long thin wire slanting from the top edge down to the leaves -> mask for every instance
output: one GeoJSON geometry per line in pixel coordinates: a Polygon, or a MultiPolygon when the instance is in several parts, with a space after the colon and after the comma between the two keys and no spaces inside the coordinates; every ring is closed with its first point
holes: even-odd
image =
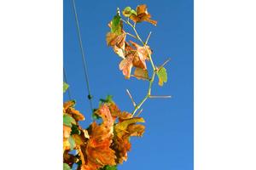
{"type": "Polygon", "coordinates": [[[81,49],[81,54],[82,54],[82,59],[83,59],[84,78],[85,78],[87,92],[88,92],[88,96],[87,97],[88,97],[88,99],[90,101],[90,110],[93,111],[93,109],[92,109],[92,101],[91,101],[92,95],[90,94],[88,69],[87,69],[87,65],[86,65],[86,59],[85,59],[85,56],[84,56],[84,48],[83,48],[83,42],[82,42],[81,32],[80,32],[80,28],[79,28],[79,18],[78,18],[78,14],[77,14],[75,0],[73,0],[73,12],[74,12],[74,15],[75,15],[76,27],[77,27],[78,36],[79,36],[79,47],[81,49]]]}

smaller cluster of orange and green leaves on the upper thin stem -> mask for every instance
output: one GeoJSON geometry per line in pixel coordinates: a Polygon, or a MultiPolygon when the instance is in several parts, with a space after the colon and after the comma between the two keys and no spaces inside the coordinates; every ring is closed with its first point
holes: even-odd
{"type": "MultiPolygon", "coordinates": [[[[151,15],[148,13],[145,4],[137,6],[137,10],[126,7],[122,14],[131,19],[134,23],[148,21],[156,25],[155,20],[150,20],[151,15]]],[[[137,78],[148,79],[148,71],[146,60],[149,60],[149,55],[152,50],[147,44],[140,46],[136,42],[126,41],[126,32],[123,29],[123,20],[120,14],[116,14],[113,20],[108,24],[111,31],[108,32],[106,40],[108,46],[113,47],[113,51],[122,58],[119,63],[119,69],[123,71],[125,78],[131,77],[131,68],[135,67],[134,75],[137,78]]]]}

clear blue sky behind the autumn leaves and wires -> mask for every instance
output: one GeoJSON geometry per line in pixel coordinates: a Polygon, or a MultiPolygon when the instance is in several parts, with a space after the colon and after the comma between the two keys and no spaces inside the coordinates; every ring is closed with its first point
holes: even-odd
{"type": "MultiPolygon", "coordinates": [[[[119,71],[119,57],[106,44],[108,22],[117,7],[136,8],[138,4],[147,3],[148,12],[152,19],[158,20],[158,26],[138,24],[137,31],[143,39],[149,31],[153,32],[149,45],[154,50],[156,65],[172,58],[166,65],[168,82],[162,88],[155,82],[152,89],[152,94],[170,94],[172,99],[148,99],[143,105],[146,132],[141,139],[131,139],[128,161],[119,166],[119,170],[193,169],[193,0],[76,2],[94,107],[99,99],[112,94],[122,111],[132,111],[125,89],[130,89],[134,99],[140,101],[148,88],[148,82],[134,78],[125,80],[119,71]]],[[[82,123],[86,127],[92,120],[71,0],[64,0],[63,28],[67,80],[72,97],[77,101],[76,108],[86,117],[82,123]]]]}

